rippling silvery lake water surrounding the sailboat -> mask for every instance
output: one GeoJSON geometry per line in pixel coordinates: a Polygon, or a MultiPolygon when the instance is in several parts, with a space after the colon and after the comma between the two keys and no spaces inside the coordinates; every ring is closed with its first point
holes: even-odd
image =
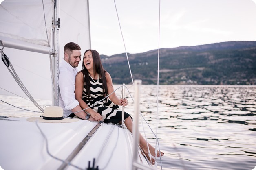
{"type": "MultiPolygon", "coordinates": [[[[126,111],[132,114],[128,91],[133,96],[133,87],[127,87],[126,111]]],[[[116,93],[119,96],[120,89],[116,93]]],[[[0,99],[38,111],[20,97],[0,99]]],[[[252,170],[256,166],[256,86],[160,85],[157,104],[157,86],[142,85],[140,101],[141,113],[157,132],[165,153],[161,157],[164,170],[252,170]]],[[[47,100],[38,102],[51,105],[47,100]]],[[[39,115],[2,101],[0,107],[0,115],[9,117],[39,115]]],[[[154,135],[145,123],[143,126],[154,144],[154,135]]],[[[143,126],[140,124],[141,131],[143,126]]],[[[157,168],[161,169],[159,158],[157,168]]]]}

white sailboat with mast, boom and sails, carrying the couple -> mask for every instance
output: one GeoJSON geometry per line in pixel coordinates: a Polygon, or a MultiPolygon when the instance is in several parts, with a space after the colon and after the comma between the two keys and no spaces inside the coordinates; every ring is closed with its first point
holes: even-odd
{"type": "MultiPolygon", "coordinates": [[[[18,49],[49,57],[52,105],[58,106],[60,48],[70,41],[90,48],[88,0],[5,0],[0,7],[0,40],[4,65],[35,105],[33,92],[13,70],[9,54],[18,49]]],[[[36,64],[41,63],[33,62],[36,64]]],[[[29,81],[33,84],[36,80],[29,81]]],[[[139,83],[135,87],[139,88],[139,83]]],[[[34,89],[46,93],[44,86],[34,89]]],[[[38,108],[43,113],[44,109],[38,108]]],[[[137,132],[132,135],[124,127],[87,120],[40,123],[27,119],[0,118],[0,166],[5,170],[155,169],[141,154],[137,132]]]]}

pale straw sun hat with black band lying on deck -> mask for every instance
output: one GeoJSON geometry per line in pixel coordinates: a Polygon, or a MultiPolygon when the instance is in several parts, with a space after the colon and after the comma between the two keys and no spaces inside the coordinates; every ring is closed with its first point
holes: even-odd
{"type": "Polygon", "coordinates": [[[31,117],[27,118],[30,122],[40,122],[40,123],[69,123],[76,122],[79,119],[69,119],[63,117],[63,109],[59,106],[49,106],[44,109],[43,117],[31,117]]]}

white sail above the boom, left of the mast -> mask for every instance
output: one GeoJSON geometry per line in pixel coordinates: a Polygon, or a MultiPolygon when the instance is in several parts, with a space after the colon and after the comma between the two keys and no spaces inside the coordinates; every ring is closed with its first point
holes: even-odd
{"type": "Polygon", "coordinates": [[[42,0],[3,1],[0,6],[0,39],[4,45],[18,49],[37,47],[41,52],[45,49],[48,54],[48,48],[40,46],[48,46],[51,40],[53,6],[52,0],[44,0],[43,5],[42,0]]]}

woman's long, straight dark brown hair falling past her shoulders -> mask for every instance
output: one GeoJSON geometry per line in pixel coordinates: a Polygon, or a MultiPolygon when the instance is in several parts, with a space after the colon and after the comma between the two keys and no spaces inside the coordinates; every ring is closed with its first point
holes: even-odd
{"type": "MultiPolygon", "coordinates": [[[[104,96],[107,96],[108,95],[108,87],[107,87],[107,81],[106,81],[106,76],[105,76],[106,70],[103,68],[102,61],[99,56],[99,52],[97,52],[96,50],[89,49],[84,52],[84,55],[87,51],[90,51],[93,54],[93,74],[95,75],[95,72],[96,72],[99,74],[99,76],[102,77],[103,93],[104,93],[104,96]]],[[[90,97],[90,78],[89,78],[89,72],[84,65],[84,58],[83,58],[81,71],[84,74],[86,95],[88,95],[88,97],[90,97]]]]}

